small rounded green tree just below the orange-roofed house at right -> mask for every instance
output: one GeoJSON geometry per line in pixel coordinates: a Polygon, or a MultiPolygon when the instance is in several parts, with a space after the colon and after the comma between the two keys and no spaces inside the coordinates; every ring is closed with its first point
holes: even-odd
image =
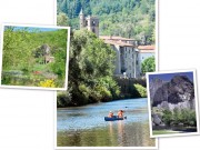
{"type": "Polygon", "coordinates": [[[153,72],[156,70],[156,63],[154,63],[154,57],[147,58],[142,62],[142,74],[146,74],[146,72],[153,72]]]}

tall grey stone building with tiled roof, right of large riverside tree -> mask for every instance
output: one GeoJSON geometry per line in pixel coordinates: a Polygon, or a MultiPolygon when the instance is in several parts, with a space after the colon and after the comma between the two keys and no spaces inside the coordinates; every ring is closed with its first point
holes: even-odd
{"type": "Polygon", "coordinates": [[[138,50],[134,40],[122,37],[100,36],[100,39],[110,44],[117,53],[114,74],[118,77],[138,78],[138,50]]]}

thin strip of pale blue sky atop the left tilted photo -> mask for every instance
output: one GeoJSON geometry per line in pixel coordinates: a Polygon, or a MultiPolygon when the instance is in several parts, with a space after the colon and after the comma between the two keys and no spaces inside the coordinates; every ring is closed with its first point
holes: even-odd
{"type": "Polygon", "coordinates": [[[40,27],[20,27],[20,26],[4,26],[4,27],[6,28],[7,27],[14,27],[14,30],[21,30],[21,29],[28,28],[28,31],[30,31],[30,32],[36,31],[36,30],[41,31],[41,32],[60,30],[57,28],[40,28],[40,27]]]}

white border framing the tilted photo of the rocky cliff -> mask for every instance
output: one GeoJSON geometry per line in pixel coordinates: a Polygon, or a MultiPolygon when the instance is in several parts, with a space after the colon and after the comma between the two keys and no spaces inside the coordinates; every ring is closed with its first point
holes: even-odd
{"type": "Polygon", "coordinates": [[[173,71],[159,71],[159,72],[148,72],[146,73],[147,78],[147,93],[148,93],[148,110],[149,110],[149,130],[150,130],[150,138],[162,138],[162,137],[186,137],[186,136],[198,136],[199,132],[199,102],[198,102],[198,91],[197,91],[197,71],[196,69],[188,69],[188,70],[173,70],[173,71]],[[168,134],[152,134],[152,123],[151,123],[151,101],[150,101],[150,91],[149,91],[149,74],[163,74],[163,73],[181,73],[181,72],[192,72],[193,74],[193,87],[194,87],[194,101],[196,101],[196,120],[197,120],[197,132],[190,133],[168,133],[168,134]]]}

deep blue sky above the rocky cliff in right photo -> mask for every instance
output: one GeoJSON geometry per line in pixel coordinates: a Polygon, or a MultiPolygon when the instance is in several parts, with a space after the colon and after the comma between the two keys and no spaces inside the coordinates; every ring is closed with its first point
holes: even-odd
{"type": "Polygon", "coordinates": [[[152,81],[152,79],[158,78],[164,81],[170,81],[174,76],[187,76],[190,81],[193,82],[193,72],[173,72],[173,73],[157,73],[157,74],[149,74],[149,81],[152,81]]]}

